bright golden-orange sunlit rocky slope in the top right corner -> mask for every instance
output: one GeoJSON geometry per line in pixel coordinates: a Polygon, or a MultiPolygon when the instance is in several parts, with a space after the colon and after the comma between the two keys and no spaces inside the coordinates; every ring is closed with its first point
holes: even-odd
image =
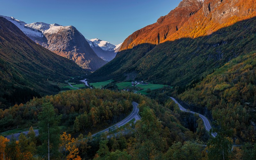
{"type": "Polygon", "coordinates": [[[207,36],[238,21],[256,16],[255,0],[204,0],[202,8],[163,42],[207,36]]]}

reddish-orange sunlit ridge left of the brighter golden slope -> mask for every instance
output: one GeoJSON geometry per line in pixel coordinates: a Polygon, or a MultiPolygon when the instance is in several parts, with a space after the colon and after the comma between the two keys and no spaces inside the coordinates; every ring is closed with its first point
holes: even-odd
{"type": "Polygon", "coordinates": [[[177,32],[180,27],[203,6],[201,0],[184,0],[166,16],[161,16],[156,23],[137,30],[127,37],[120,51],[148,43],[159,44],[177,32]]]}

